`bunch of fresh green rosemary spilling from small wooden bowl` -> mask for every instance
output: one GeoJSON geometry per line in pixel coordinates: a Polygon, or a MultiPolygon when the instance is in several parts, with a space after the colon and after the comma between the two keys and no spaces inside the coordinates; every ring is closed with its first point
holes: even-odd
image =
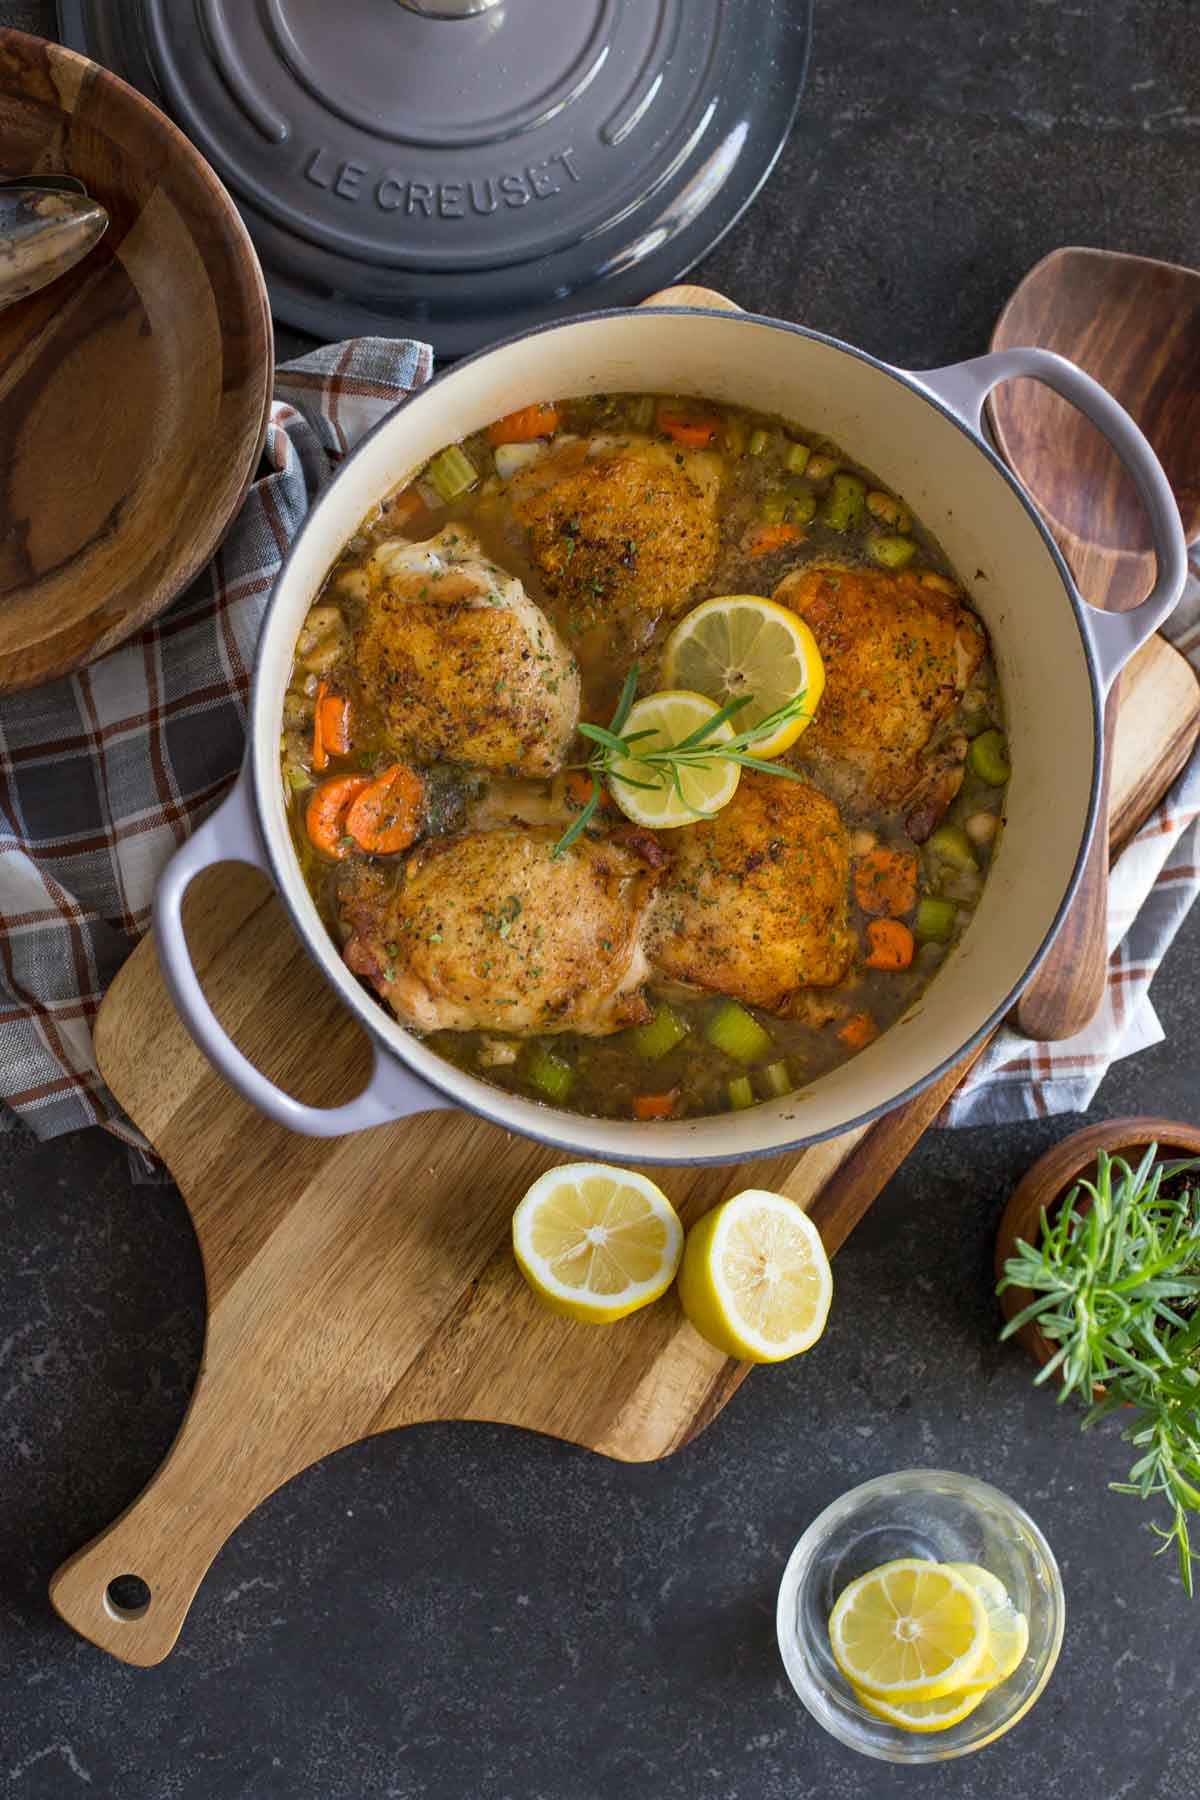
{"type": "Polygon", "coordinates": [[[1193,1593],[1189,1514],[1200,1512],[1200,1184],[1177,1177],[1200,1157],[1160,1163],[1150,1145],[1137,1168],[1105,1150],[1096,1179],[1042,1215],[1036,1246],[1018,1240],[1004,1264],[1006,1287],[1034,1298],[1002,1330],[1027,1319],[1056,1345],[1034,1381],[1061,1377],[1060,1400],[1092,1400],[1083,1429],[1123,1411],[1123,1442],[1137,1451],[1117,1494],[1166,1503],[1169,1526],[1151,1525],[1159,1553],[1175,1546],[1180,1580],[1193,1593]],[[1164,1184],[1169,1188],[1162,1192],[1164,1184]],[[1126,1409],[1132,1409],[1126,1411],[1126,1409]]]}

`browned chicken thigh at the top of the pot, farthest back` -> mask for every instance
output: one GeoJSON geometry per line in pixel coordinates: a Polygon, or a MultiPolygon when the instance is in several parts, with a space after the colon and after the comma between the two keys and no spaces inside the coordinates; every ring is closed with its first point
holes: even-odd
{"type": "Polygon", "coordinates": [[[587,630],[621,614],[644,634],[712,574],[720,463],[651,437],[574,439],[509,484],[551,594],[587,630]]]}

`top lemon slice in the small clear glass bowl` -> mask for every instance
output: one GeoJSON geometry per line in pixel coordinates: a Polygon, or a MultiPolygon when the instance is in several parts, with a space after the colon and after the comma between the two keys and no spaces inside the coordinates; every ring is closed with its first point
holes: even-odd
{"type": "Polygon", "coordinates": [[[988,1611],[963,1575],[905,1557],[842,1589],[829,1649],[849,1685],[874,1699],[941,1699],[982,1669],[988,1611]]]}

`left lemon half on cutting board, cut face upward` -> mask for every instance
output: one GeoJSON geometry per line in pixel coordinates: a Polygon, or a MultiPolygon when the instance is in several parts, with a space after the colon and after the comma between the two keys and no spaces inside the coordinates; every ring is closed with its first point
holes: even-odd
{"type": "Polygon", "coordinates": [[[646,1175],[567,1163],[540,1175],[513,1213],[513,1251],[552,1312],[606,1325],[666,1294],[684,1226],[646,1175]]]}

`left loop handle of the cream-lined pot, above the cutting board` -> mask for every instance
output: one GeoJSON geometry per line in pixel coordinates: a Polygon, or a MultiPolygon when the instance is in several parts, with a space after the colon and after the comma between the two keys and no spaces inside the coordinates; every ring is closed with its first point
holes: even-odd
{"type": "Polygon", "coordinates": [[[259,1112],[308,1138],[340,1138],[369,1125],[387,1125],[408,1112],[452,1107],[452,1100],[410,1075],[398,1058],[383,1055],[378,1044],[372,1044],[371,1080],[340,1107],[309,1107],[293,1100],[243,1057],[205,999],[184,932],[184,895],[196,875],[214,862],[248,862],[270,877],[254,817],[248,767],[218,810],[176,850],[155,893],[155,945],[167,990],[218,1075],[259,1112]]]}

